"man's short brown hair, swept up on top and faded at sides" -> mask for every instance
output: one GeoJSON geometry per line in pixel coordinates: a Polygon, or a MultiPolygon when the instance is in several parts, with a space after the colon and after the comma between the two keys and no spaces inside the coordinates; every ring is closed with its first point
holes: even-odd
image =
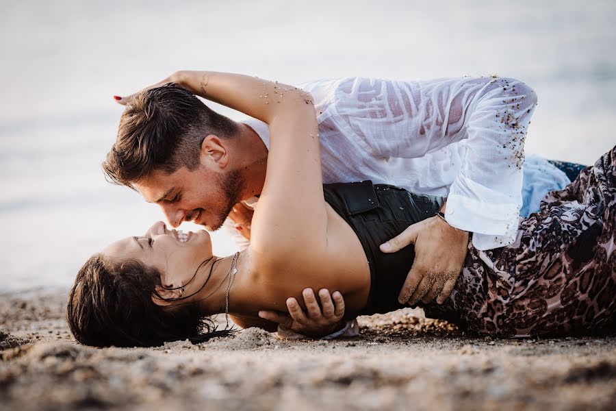
{"type": "Polygon", "coordinates": [[[118,138],[103,162],[110,182],[133,187],[153,171],[194,170],[209,134],[230,138],[238,126],[174,83],[141,92],[120,119],[118,138]]]}

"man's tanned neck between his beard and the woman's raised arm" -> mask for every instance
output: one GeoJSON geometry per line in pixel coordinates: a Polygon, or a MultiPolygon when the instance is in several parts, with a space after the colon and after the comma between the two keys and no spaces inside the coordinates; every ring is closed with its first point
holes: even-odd
{"type": "Polygon", "coordinates": [[[235,150],[240,155],[238,170],[245,182],[242,200],[247,200],[261,194],[263,190],[268,166],[268,148],[251,127],[244,123],[238,123],[238,127],[240,132],[235,150]]]}

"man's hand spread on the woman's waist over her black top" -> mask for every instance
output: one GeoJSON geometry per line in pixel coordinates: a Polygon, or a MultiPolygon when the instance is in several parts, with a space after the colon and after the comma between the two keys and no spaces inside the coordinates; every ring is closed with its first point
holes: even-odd
{"type": "Polygon", "coordinates": [[[383,253],[395,253],[415,245],[415,261],[400,290],[398,301],[415,306],[438,296],[445,302],[462,270],[468,247],[468,232],[450,226],[439,216],[415,223],[381,245],[383,253]]]}

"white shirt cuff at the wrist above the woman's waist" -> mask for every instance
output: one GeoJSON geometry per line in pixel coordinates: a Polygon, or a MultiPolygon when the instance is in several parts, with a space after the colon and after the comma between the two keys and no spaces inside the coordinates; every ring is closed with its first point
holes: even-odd
{"type": "Polygon", "coordinates": [[[473,233],[478,250],[505,247],[515,241],[519,206],[515,203],[487,203],[462,195],[447,197],[445,219],[449,225],[473,233]]]}

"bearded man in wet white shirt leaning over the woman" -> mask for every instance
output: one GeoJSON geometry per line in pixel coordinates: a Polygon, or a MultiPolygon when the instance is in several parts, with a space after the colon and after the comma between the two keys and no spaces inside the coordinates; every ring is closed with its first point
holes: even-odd
{"type": "MultiPolygon", "coordinates": [[[[181,71],[152,88],[175,83],[207,98],[208,76],[181,71]]],[[[315,103],[325,183],[371,179],[448,197],[444,218],[412,225],[381,246],[387,253],[415,245],[401,303],[436,297],[442,303],[448,297],[465,260],[469,232],[474,246],[483,250],[515,240],[524,136],[537,101],[524,83],[493,77],[427,82],[348,78],[302,88],[315,103]],[[463,140],[448,145],[453,138],[463,140]]],[[[168,88],[169,95],[173,89],[168,88]]],[[[261,98],[275,104],[285,91],[261,98]]],[[[116,100],[127,104],[134,97],[116,100]]],[[[235,228],[249,238],[250,209],[266,177],[267,125],[235,123],[209,109],[196,112],[168,101],[151,112],[134,112],[128,105],[103,164],[107,175],[158,203],[174,227],[194,221],[218,229],[230,214],[235,228]],[[168,145],[164,161],[148,170],[131,168],[131,158],[151,144],[168,145]],[[207,154],[201,164],[199,153],[207,154]]],[[[537,161],[543,162],[543,174],[554,176],[552,189],[566,184],[554,166],[537,161]]],[[[310,293],[305,299],[316,305],[310,293]]],[[[290,312],[298,312],[296,301],[290,303],[290,312]]],[[[293,323],[281,314],[264,316],[293,323]]],[[[303,332],[311,329],[309,321],[294,325],[303,332]]]]}

